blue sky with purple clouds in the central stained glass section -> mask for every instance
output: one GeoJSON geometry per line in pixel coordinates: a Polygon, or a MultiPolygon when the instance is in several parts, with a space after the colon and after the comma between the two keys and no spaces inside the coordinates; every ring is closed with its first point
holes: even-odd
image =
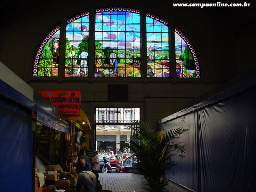
{"type": "Polygon", "coordinates": [[[102,41],[102,47],[136,49],[140,48],[140,15],[131,12],[96,13],[95,41],[102,41]]]}

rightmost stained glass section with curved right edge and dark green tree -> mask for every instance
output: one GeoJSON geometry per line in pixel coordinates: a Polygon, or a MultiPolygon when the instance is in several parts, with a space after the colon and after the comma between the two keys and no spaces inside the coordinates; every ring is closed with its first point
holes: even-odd
{"type": "Polygon", "coordinates": [[[196,51],[188,38],[175,28],[175,57],[177,78],[200,78],[196,51]]]}

